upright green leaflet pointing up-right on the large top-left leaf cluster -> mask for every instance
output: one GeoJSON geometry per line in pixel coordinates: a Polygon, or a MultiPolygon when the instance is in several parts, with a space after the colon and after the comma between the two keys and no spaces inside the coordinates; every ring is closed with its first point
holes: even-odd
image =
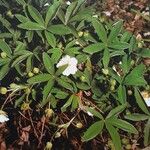
{"type": "Polygon", "coordinates": [[[46,18],[45,18],[45,26],[49,24],[49,22],[55,17],[58,9],[60,6],[59,1],[55,1],[53,5],[49,6],[48,11],[46,13],[46,18]]]}

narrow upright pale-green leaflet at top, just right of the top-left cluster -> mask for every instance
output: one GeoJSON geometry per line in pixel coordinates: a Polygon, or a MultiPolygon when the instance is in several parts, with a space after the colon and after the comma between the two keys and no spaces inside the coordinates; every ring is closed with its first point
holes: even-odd
{"type": "Polygon", "coordinates": [[[68,8],[67,8],[67,11],[66,11],[66,15],[65,15],[65,25],[67,25],[70,17],[72,16],[73,14],[73,11],[75,10],[76,6],[77,6],[78,2],[72,2],[68,8]]]}

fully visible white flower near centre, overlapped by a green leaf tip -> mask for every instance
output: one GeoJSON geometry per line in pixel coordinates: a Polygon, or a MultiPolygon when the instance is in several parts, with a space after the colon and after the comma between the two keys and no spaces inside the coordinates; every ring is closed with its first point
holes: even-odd
{"type": "Polygon", "coordinates": [[[56,67],[59,68],[64,65],[68,65],[62,74],[65,76],[69,76],[70,74],[75,74],[77,72],[77,64],[78,60],[75,57],[70,57],[69,55],[66,55],[58,62],[56,67]]]}

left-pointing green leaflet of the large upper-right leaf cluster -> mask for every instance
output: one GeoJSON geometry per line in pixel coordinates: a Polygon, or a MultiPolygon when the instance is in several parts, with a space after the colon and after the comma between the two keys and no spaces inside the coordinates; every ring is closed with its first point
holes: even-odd
{"type": "Polygon", "coordinates": [[[104,47],[105,45],[103,43],[90,44],[89,46],[83,49],[83,52],[86,52],[92,55],[94,53],[102,51],[104,47]]]}

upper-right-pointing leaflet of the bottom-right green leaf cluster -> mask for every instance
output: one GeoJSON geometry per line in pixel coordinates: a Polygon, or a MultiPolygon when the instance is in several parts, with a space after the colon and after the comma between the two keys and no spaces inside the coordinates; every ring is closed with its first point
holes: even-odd
{"type": "Polygon", "coordinates": [[[126,104],[123,105],[119,105],[117,107],[115,107],[114,109],[112,109],[109,114],[107,115],[106,118],[110,118],[111,116],[117,116],[118,114],[120,114],[121,112],[124,111],[124,109],[126,108],[126,104]]]}

